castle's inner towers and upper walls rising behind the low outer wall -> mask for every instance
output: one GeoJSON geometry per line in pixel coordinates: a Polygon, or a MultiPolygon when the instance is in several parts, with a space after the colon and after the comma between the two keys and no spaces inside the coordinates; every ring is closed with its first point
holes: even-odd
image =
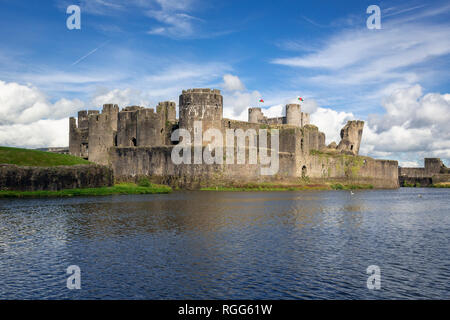
{"type": "MultiPolygon", "coordinates": [[[[223,119],[223,97],[218,89],[194,88],[183,90],[179,96],[179,119],[176,103],[159,102],[155,108],[126,106],[119,110],[117,104],[104,104],[102,111],[87,110],[70,118],[70,153],[90,161],[109,164],[111,148],[160,147],[176,144],[171,135],[177,128],[187,130],[191,139],[197,139],[209,129],[254,130],[273,128],[280,131],[283,152],[307,157],[310,150],[325,147],[325,134],[309,124],[309,114],[302,112],[300,104],[287,104],[285,116],[268,118],[260,107],[248,109],[248,122],[223,119]],[[201,122],[201,130],[194,123],[201,122]],[[301,151],[299,151],[301,150],[301,151]]],[[[350,121],[343,128],[339,146],[342,152],[357,154],[364,122],[350,121]]],[[[203,144],[208,143],[202,140],[203,144]]],[[[333,146],[333,144],[331,144],[333,146]]],[[[296,164],[295,164],[296,165],[296,164]]]]}

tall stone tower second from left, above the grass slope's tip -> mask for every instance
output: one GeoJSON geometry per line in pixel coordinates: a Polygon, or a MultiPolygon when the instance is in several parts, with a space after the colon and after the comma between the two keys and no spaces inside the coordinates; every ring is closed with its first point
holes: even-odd
{"type": "Polygon", "coordinates": [[[107,165],[108,149],[115,145],[119,107],[105,104],[101,114],[89,115],[89,161],[107,165]]]}

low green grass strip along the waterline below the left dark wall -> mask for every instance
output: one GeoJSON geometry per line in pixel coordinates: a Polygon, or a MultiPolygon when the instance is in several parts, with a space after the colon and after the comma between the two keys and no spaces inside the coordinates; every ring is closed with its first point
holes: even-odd
{"type": "Polygon", "coordinates": [[[170,192],[172,192],[172,188],[165,185],[150,184],[149,186],[142,187],[134,183],[121,183],[113,187],[64,189],[60,191],[0,191],[0,198],[108,196],[114,194],[157,194],[170,192]]]}

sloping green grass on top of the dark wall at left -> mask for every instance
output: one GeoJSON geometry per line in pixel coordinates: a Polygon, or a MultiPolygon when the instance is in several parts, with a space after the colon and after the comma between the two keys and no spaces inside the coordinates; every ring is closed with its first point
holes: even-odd
{"type": "Polygon", "coordinates": [[[91,162],[68,154],[58,154],[30,149],[0,147],[0,163],[18,166],[54,167],[91,164],[91,162]]]}

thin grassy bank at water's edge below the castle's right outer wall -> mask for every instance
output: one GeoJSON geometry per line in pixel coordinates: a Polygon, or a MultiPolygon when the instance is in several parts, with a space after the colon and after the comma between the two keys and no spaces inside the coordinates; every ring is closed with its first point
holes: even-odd
{"type": "Polygon", "coordinates": [[[307,191],[307,190],[356,190],[373,189],[370,184],[341,184],[341,183],[323,183],[323,184],[274,184],[259,183],[245,184],[236,186],[216,186],[201,188],[202,191],[307,191]]]}

